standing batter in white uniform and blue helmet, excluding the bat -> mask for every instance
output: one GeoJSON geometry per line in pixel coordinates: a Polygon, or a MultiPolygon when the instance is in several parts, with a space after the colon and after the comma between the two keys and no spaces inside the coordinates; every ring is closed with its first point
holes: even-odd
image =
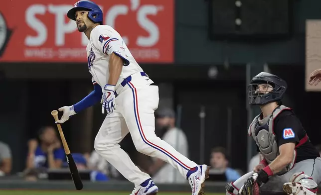
{"type": "Polygon", "coordinates": [[[139,152],[171,164],[188,180],[192,195],[202,194],[209,167],[190,161],[156,136],[154,111],[159,88],[138,65],[121,35],[103,25],[100,7],[80,0],[67,16],[89,39],[87,60],[94,91],[74,105],[59,108],[63,115],[57,122],[63,123],[100,101],[107,116],[95,138],[95,150],[135,184],[132,195],[156,195],[159,189],[121,149],[119,143],[129,132],[139,152]]]}

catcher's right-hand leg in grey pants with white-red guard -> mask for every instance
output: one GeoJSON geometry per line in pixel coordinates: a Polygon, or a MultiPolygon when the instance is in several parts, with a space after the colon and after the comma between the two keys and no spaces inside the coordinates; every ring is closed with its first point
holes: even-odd
{"type": "Polygon", "coordinates": [[[321,158],[308,159],[294,165],[281,177],[287,180],[283,190],[287,194],[315,195],[321,182],[321,158]]]}

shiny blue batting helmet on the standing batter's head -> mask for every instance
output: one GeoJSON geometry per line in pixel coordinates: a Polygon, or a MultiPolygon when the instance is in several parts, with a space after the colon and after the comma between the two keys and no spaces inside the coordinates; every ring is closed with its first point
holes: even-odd
{"type": "Polygon", "coordinates": [[[100,7],[90,1],[90,0],[79,0],[74,4],[74,7],[71,8],[68,13],[67,17],[76,20],[75,13],[79,10],[87,10],[88,12],[88,18],[93,21],[94,23],[100,23],[103,24],[103,11],[100,9],[100,7]],[[94,17],[94,15],[96,17],[94,17]]]}

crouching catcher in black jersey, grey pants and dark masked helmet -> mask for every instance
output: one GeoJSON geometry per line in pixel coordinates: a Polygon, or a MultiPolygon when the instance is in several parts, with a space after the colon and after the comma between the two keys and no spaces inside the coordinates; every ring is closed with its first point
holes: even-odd
{"type": "Polygon", "coordinates": [[[248,86],[250,104],[260,105],[262,111],[248,134],[264,159],[253,172],[227,185],[226,195],[255,195],[256,184],[269,195],[316,194],[321,183],[321,158],[295,113],[282,104],[286,89],[284,80],[265,72],[248,86]]]}

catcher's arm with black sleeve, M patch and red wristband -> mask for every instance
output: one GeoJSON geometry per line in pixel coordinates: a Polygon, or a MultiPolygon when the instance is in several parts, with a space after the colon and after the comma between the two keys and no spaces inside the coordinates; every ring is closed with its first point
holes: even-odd
{"type": "Polygon", "coordinates": [[[269,175],[280,172],[294,159],[296,143],[299,142],[298,130],[301,125],[294,115],[285,115],[277,119],[274,124],[276,141],[279,146],[280,155],[263,170],[269,175]]]}

